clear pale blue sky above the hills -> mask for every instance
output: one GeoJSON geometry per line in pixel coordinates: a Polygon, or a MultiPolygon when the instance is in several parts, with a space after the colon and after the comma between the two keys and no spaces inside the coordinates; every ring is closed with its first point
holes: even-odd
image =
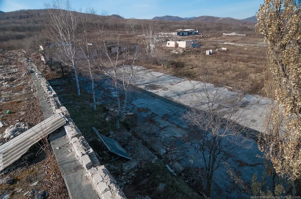
{"type": "MultiPolygon", "coordinates": [[[[42,9],[51,0],[0,0],[4,12],[42,9]]],[[[263,0],[70,0],[75,10],[94,7],[125,18],[151,19],[155,16],[219,16],[244,19],[255,15],[263,0]]]]}

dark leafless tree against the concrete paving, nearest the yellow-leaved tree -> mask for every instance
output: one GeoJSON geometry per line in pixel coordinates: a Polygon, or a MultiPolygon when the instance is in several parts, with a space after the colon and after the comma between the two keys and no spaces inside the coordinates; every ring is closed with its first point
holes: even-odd
{"type": "Polygon", "coordinates": [[[194,95],[194,108],[190,108],[184,119],[189,125],[197,126],[200,141],[194,147],[203,158],[206,179],[206,195],[211,196],[214,172],[228,159],[236,147],[249,147],[246,144],[247,130],[244,124],[247,120],[241,104],[244,92],[224,92],[224,87],[213,87],[200,83],[200,95],[194,95]]]}

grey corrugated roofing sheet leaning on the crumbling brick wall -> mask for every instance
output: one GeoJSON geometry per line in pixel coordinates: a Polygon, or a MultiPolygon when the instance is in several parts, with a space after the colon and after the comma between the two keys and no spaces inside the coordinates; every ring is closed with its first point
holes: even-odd
{"type": "Polygon", "coordinates": [[[54,132],[66,123],[66,118],[57,113],[28,129],[21,135],[0,146],[0,171],[19,159],[33,144],[54,132]]]}

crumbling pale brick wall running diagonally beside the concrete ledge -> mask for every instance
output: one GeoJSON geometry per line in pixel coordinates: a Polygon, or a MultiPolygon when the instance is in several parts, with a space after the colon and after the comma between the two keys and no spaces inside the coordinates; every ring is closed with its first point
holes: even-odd
{"type": "MultiPolygon", "coordinates": [[[[70,118],[68,110],[62,106],[57,94],[49,85],[48,81],[45,79],[36,65],[32,64],[32,67],[35,75],[42,83],[45,93],[49,97],[53,112],[60,112],[68,119],[68,122],[64,125],[67,135],[66,138],[72,146],[72,150],[76,153],[76,158],[85,168],[87,176],[90,179],[94,189],[98,192],[99,197],[102,199],[126,199],[126,196],[116,184],[116,181],[113,179],[110,172],[105,168],[104,165],[100,165],[93,149],[89,146],[76,124],[70,118]]],[[[89,198],[89,196],[87,196],[87,198],[89,198]]]]}

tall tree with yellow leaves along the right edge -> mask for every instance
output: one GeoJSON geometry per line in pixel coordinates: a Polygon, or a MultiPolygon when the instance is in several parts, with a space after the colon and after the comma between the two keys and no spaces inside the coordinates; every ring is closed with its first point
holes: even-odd
{"type": "Polygon", "coordinates": [[[289,180],[294,195],[295,180],[301,176],[301,0],[264,0],[257,19],[256,31],[265,37],[275,83],[259,149],[278,176],[289,180]]]}

